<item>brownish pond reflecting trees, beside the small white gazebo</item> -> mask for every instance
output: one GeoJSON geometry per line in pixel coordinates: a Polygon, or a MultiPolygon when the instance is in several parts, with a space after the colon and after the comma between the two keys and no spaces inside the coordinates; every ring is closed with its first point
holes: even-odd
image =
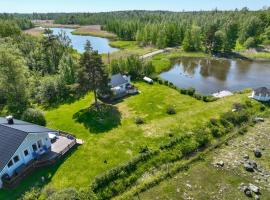
{"type": "Polygon", "coordinates": [[[160,76],[179,88],[193,87],[206,95],[222,90],[270,88],[270,62],[181,58],[160,76]]]}

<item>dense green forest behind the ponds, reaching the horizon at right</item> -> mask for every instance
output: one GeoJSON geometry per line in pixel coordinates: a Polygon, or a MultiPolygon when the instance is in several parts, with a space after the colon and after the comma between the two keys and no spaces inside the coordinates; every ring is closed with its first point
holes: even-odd
{"type": "Polygon", "coordinates": [[[62,14],[55,20],[61,24],[101,24],[121,40],[135,40],[158,48],[183,45],[186,51],[217,53],[270,44],[269,9],[62,14]]]}

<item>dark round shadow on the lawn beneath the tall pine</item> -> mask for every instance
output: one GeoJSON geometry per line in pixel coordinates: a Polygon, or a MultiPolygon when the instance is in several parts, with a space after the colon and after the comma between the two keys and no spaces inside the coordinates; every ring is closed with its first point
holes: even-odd
{"type": "Polygon", "coordinates": [[[83,124],[92,133],[104,133],[121,125],[121,113],[109,104],[99,104],[80,110],[73,115],[76,122],[83,124]]]}

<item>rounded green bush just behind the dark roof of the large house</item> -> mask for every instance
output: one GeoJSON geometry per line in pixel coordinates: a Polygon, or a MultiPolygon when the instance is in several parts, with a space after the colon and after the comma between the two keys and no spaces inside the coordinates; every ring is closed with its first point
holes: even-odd
{"type": "Polygon", "coordinates": [[[40,126],[46,126],[46,119],[43,112],[37,109],[28,108],[24,111],[22,120],[40,126]]]}

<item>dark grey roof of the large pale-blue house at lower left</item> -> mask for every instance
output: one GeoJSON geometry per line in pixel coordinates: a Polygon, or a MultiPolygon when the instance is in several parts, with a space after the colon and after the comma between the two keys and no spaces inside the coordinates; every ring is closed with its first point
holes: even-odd
{"type": "Polygon", "coordinates": [[[57,132],[42,126],[15,120],[14,124],[7,123],[6,118],[0,117],[0,172],[10,161],[28,134],[57,132]]]}

